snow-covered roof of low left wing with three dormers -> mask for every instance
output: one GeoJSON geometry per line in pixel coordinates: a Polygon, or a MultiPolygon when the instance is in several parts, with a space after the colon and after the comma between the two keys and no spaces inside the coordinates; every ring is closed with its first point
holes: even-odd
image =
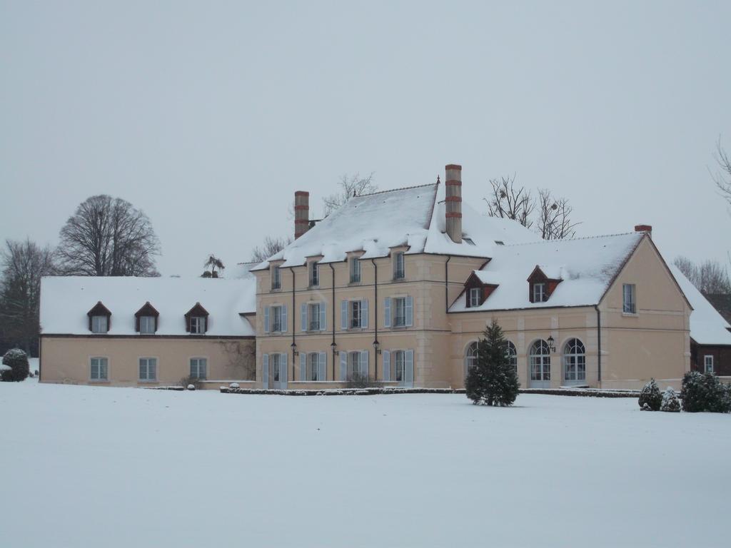
{"type": "Polygon", "coordinates": [[[242,313],[256,311],[254,279],[53,276],[42,278],[43,334],[88,335],[88,311],[97,302],[112,313],[109,335],[135,335],[135,313],[150,302],[159,312],[156,335],[186,335],[184,315],[200,302],[206,335],[253,336],[242,313]]]}

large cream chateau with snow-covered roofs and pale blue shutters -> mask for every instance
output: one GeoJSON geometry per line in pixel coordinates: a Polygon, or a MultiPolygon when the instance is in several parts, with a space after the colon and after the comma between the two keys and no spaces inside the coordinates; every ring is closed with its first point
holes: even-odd
{"type": "Polygon", "coordinates": [[[42,381],[463,387],[493,319],[523,387],[731,375],[729,324],[651,227],[539,240],[463,203],[461,171],[352,197],[317,223],[297,192],[295,240],[240,280],[45,278],[42,381]]]}

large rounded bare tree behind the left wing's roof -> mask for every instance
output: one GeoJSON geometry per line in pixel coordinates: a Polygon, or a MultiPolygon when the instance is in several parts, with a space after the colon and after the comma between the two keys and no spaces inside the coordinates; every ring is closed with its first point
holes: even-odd
{"type": "Polygon", "coordinates": [[[64,274],[156,276],[160,244],[148,216],[121,198],[92,196],[61,228],[58,266],[64,274]]]}

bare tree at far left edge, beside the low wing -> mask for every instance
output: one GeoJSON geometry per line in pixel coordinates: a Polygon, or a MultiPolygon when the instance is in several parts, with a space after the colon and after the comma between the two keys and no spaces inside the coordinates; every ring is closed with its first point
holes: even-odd
{"type": "Polygon", "coordinates": [[[4,338],[27,354],[36,354],[41,278],[56,272],[53,251],[28,239],[6,240],[1,262],[0,322],[4,338]]]}

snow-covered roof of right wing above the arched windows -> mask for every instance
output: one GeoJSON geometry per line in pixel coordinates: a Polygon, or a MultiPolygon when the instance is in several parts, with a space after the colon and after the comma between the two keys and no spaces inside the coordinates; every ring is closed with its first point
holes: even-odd
{"type": "MultiPolygon", "coordinates": [[[[479,275],[480,280],[498,287],[482,305],[469,311],[596,305],[642,237],[640,232],[631,232],[499,246],[479,275]],[[531,302],[527,279],[540,265],[549,278],[563,281],[548,301],[531,302]]],[[[463,298],[450,307],[450,312],[466,310],[463,298]]]]}

